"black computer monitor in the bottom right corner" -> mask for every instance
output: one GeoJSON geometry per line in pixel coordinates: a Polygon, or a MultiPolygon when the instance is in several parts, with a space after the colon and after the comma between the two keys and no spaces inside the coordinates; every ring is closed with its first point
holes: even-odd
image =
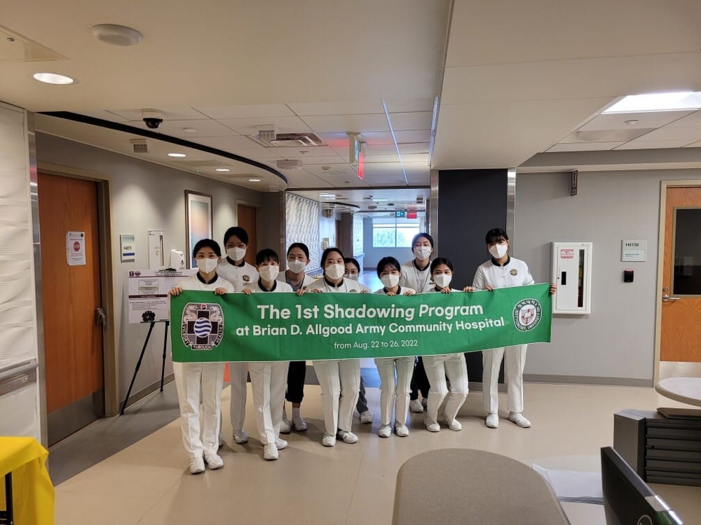
{"type": "Polygon", "coordinates": [[[601,449],[601,484],[606,525],[681,525],[628,463],[611,447],[601,449]]]}

